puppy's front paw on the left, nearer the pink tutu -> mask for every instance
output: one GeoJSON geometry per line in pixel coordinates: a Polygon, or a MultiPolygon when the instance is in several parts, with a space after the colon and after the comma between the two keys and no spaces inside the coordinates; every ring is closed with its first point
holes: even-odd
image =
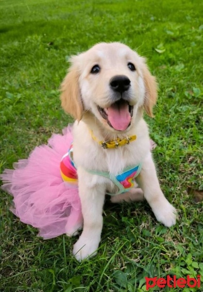
{"type": "Polygon", "coordinates": [[[100,240],[96,238],[85,238],[83,234],[74,244],[73,255],[78,261],[82,261],[85,258],[96,256],[97,249],[99,246],[100,240]]]}

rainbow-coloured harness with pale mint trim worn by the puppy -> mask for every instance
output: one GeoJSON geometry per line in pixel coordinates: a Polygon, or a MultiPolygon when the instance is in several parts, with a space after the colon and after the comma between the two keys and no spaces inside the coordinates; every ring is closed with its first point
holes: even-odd
{"type": "MultiPolygon", "coordinates": [[[[123,172],[121,174],[118,174],[116,176],[113,176],[107,171],[97,171],[97,170],[89,170],[89,169],[86,169],[86,171],[94,175],[100,175],[105,178],[108,178],[113,183],[115,183],[116,186],[118,186],[118,192],[116,194],[110,194],[110,193],[107,193],[107,194],[116,196],[121,193],[125,193],[129,191],[134,186],[133,180],[140,173],[141,167],[142,167],[142,164],[128,166],[123,169],[123,172]]],[[[73,184],[76,184],[78,182],[77,168],[73,162],[73,145],[72,144],[68,150],[68,153],[62,157],[60,170],[61,170],[61,176],[64,182],[73,183],[73,184]]]]}

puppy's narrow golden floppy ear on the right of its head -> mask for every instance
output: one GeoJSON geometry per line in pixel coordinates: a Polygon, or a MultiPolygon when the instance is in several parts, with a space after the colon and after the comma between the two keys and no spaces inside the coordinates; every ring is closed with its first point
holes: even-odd
{"type": "Polygon", "coordinates": [[[144,110],[150,117],[153,117],[152,109],[157,99],[156,78],[152,76],[152,74],[150,73],[145,63],[145,59],[142,58],[142,60],[144,60],[142,73],[143,73],[144,84],[145,84],[144,110]]]}

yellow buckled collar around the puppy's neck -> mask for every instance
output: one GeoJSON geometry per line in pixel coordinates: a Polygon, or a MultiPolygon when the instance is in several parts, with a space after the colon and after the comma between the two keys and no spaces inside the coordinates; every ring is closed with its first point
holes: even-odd
{"type": "Polygon", "coordinates": [[[103,149],[107,149],[107,148],[118,148],[118,146],[124,146],[126,144],[129,144],[132,141],[136,140],[136,135],[132,135],[132,136],[127,136],[124,139],[114,139],[114,140],[107,140],[107,141],[99,141],[93,134],[93,131],[90,130],[90,134],[92,136],[92,139],[94,141],[96,141],[99,145],[101,145],[101,147],[103,147],[103,149]]]}

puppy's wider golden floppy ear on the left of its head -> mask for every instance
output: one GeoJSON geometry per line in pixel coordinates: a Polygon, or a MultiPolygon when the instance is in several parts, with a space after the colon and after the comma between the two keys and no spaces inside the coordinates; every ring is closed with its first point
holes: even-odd
{"type": "Polygon", "coordinates": [[[80,121],[83,115],[83,103],[79,88],[80,71],[77,58],[78,56],[71,57],[72,65],[61,84],[61,104],[66,112],[80,121]]]}

